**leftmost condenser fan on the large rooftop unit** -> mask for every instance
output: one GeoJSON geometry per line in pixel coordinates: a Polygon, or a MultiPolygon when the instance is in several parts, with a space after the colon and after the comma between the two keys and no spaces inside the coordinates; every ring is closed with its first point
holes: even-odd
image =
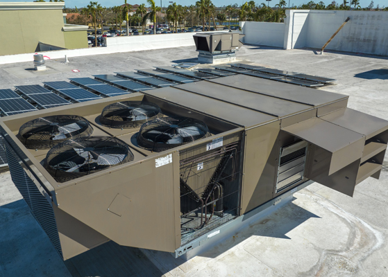
{"type": "Polygon", "coordinates": [[[67,139],[90,136],[93,128],[81,116],[46,116],[24,123],[17,135],[30,149],[48,149],[67,139]]]}

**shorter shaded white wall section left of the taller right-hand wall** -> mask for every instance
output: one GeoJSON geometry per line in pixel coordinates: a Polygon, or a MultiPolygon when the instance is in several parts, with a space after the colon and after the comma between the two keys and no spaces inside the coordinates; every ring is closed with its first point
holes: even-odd
{"type": "Polygon", "coordinates": [[[283,47],[284,23],[244,21],[240,22],[240,26],[246,44],[283,47]]]}

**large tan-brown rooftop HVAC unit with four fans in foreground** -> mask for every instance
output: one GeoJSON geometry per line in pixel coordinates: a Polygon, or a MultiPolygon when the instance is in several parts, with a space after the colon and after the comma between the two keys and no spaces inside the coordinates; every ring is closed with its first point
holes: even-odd
{"type": "Polygon", "coordinates": [[[178,257],[312,181],[352,196],[378,179],[388,122],[347,101],[234,75],[8,116],[0,134],[62,258],[109,240],[178,257]]]}

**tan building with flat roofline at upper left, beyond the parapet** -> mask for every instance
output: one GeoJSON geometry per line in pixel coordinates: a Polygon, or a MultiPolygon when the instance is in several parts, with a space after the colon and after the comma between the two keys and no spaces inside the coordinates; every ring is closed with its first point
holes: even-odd
{"type": "Polygon", "coordinates": [[[63,2],[0,3],[0,55],[37,52],[39,42],[59,48],[87,47],[87,34],[79,30],[83,26],[73,31],[64,23],[63,6],[63,2]]]}

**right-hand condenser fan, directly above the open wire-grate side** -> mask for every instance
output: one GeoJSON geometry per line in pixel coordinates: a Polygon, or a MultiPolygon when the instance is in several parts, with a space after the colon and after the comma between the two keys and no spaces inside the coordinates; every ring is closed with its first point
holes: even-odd
{"type": "Polygon", "coordinates": [[[208,136],[208,126],[201,120],[164,117],[144,123],[137,134],[137,144],[160,152],[208,136]]]}

